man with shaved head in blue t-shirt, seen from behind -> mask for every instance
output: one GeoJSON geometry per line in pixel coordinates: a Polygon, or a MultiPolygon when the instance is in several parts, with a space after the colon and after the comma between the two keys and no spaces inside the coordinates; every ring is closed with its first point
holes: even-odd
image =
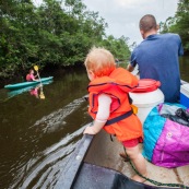
{"type": "Polygon", "coordinates": [[[131,54],[129,71],[139,67],[140,79],[161,82],[165,102],[178,103],[180,94],[179,56],[184,55],[181,39],[177,34],[157,34],[160,26],[152,14],[144,15],[139,23],[144,39],[131,54]]]}

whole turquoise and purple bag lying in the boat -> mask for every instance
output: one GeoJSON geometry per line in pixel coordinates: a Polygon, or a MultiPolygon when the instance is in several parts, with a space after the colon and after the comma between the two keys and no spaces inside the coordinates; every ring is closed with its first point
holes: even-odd
{"type": "Polygon", "coordinates": [[[165,113],[174,114],[180,105],[162,106],[153,108],[144,121],[143,155],[162,167],[189,165],[189,127],[162,116],[165,113]]]}

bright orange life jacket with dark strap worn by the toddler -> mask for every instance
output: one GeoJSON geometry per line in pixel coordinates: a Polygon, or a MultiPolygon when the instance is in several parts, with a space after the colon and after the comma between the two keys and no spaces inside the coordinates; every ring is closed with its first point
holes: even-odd
{"type": "Polygon", "coordinates": [[[105,129],[116,134],[119,141],[143,137],[142,125],[132,114],[129,103],[129,92],[138,86],[138,79],[122,68],[115,69],[109,76],[94,79],[88,84],[88,113],[95,119],[98,110],[98,95],[102,93],[111,97],[110,116],[105,129]]]}

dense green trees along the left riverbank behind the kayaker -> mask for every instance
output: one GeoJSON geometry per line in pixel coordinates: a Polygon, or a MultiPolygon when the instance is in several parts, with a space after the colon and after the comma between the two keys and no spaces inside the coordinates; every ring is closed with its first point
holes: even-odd
{"type": "Polygon", "coordinates": [[[67,67],[81,63],[92,46],[104,46],[128,59],[128,38],[106,36],[108,26],[82,0],[1,0],[0,79],[25,73],[34,64],[67,67]]]}

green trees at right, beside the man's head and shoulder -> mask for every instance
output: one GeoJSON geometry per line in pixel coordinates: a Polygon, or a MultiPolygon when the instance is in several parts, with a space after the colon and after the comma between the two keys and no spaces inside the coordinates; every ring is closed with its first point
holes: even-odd
{"type": "Polygon", "coordinates": [[[177,33],[180,35],[185,55],[189,54],[189,0],[179,0],[174,17],[168,17],[161,24],[162,33],[177,33]]]}

